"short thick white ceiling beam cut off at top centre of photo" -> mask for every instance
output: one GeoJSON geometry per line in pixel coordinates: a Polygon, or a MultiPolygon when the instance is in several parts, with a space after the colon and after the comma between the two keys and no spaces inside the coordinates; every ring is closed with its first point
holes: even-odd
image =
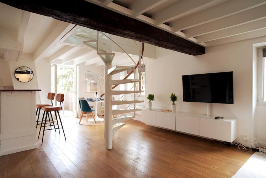
{"type": "Polygon", "coordinates": [[[128,6],[128,9],[132,10],[132,15],[134,17],[147,12],[148,10],[153,9],[156,6],[161,5],[162,3],[166,2],[167,0],[137,0],[131,5],[128,6]]]}

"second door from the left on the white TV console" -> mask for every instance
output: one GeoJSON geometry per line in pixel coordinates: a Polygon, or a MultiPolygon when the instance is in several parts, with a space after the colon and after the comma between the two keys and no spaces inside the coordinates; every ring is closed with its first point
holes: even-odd
{"type": "Polygon", "coordinates": [[[175,130],[176,129],[176,114],[165,112],[157,112],[156,116],[157,126],[175,130]]]}

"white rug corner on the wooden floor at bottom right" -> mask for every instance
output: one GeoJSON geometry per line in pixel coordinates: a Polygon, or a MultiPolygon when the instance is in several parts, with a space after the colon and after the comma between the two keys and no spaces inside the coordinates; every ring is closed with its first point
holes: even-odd
{"type": "Polygon", "coordinates": [[[266,177],[266,158],[263,156],[260,152],[254,153],[233,177],[266,177]]]}

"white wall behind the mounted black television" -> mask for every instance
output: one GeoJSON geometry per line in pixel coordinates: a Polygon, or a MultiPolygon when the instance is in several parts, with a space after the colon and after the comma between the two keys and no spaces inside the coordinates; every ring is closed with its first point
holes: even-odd
{"type": "Polygon", "coordinates": [[[233,71],[234,104],[211,104],[211,113],[238,118],[236,140],[242,141],[243,134],[251,143],[252,45],[263,41],[266,41],[265,37],[208,47],[206,54],[201,56],[156,47],[157,59],[146,60],[146,95],[155,94],[153,108],[171,109],[169,96],[176,93],[179,96],[177,111],[206,114],[205,103],[183,102],[182,75],[233,71]]]}

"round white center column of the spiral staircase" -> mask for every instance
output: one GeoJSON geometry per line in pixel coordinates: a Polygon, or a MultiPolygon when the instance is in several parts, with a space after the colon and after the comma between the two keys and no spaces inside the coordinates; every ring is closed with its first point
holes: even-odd
{"type": "Polygon", "coordinates": [[[105,64],[105,96],[104,96],[104,129],[105,129],[105,148],[112,149],[112,105],[111,105],[111,90],[112,86],[109,85],[109,81],[112,80],[112,76],[107,74],[107,70],[112,67],[110,61],[106,61],[105,64]]]}

